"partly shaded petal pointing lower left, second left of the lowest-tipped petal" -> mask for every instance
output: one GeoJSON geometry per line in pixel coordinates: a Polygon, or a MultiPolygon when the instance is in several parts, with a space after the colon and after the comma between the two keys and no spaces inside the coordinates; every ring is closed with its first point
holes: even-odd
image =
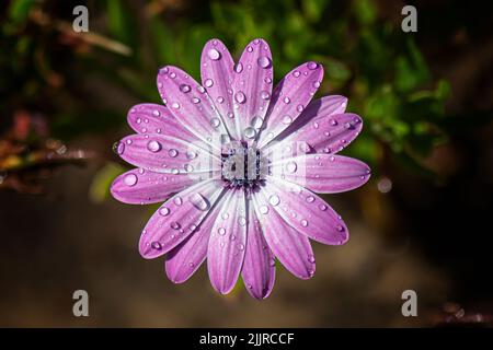
{"type": "Polygon", "coordinates": [[[167,276],[174,283],[185,282],[206,259],[210,232],[220,212],[220,203],[221,199],[210,209],[195,232],[167,255],[167,276]]]}

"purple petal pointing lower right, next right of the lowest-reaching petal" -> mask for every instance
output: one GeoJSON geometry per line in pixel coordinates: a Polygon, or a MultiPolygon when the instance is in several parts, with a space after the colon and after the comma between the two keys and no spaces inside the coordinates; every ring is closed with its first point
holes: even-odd
{"type": "MultiPolygon", "coordinates": [[[[276,210],[265,210],[264,194],[253,196],[256,215],[265,241],[274,255],[293,275],[301,279],[313,277],[316,264],[313,250],[307,236],[287,224],[276,210]]],[[[271,262],[273,264],[273,262],[271,262]]]]}

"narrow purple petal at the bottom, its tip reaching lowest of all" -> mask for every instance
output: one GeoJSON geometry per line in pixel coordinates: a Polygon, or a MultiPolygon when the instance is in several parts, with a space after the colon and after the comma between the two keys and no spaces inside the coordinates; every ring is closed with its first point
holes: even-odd
{"type": "Polygon", "coordinates": [[[241,276],[249,293],[265,299],[274,288],[276,267],[274,254],[265,242],[254,208],[249,208],[248,240],[241,276]]]}

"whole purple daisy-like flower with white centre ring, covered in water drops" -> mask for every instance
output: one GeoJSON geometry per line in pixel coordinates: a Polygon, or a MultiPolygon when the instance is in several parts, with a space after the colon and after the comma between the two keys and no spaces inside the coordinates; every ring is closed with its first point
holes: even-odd
{"type": "Polygon", "coordinates": [[[226,46],[203,50],[202,85],[175,67],[158,73],[163,105],[128,113],[137,132],[116,144],[136,168],[118,176],[113,196],[126,203],[164,202],[142,231],[145,258],[167,254],[165,271],[186,281],[207,258],[213,287],[229,293],[241,273],[249,293],[266,298],[275,259],[293,275],[316,270],[310,238],[341,245],[348,231],[314,192],[365,184],[369,167],[336,155],[362,130],[347,100],[310,102],[323,68],[307,62],[273,90],[267,43],[255,39],[237,65],[226,46]]]}

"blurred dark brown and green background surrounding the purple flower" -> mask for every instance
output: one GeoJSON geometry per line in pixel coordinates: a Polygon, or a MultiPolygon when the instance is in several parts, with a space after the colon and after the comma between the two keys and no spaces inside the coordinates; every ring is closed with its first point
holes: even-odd
{"type": "Polygon", "coordinates": [[[0,326],[492,326],[493,4],[468,1],[47,1],[0,4],[0,326]],[[417,9],[417,33],[401,10],[417,9]],[[72,10],[89,9],[89,33],[72,10]],[[156,207],[108,196],[129,168],[112,152],[126,113],[160,103],[160,66],[199,79],[211,37],[238,58],[265,38],[275,78],[324,65],[319,95],[349,97],[364,131],[344,154],[372,167],[358,190],[326,196],[349,226],[314,244],[317,273],[277,268],[265,301],[220,296],[203,267],[168,281],[144,260],[156,207]],[[72,315],[72,293],[90,317],[72,315]],[[419,316],[403,317],[415,290],[419,316]]]}

